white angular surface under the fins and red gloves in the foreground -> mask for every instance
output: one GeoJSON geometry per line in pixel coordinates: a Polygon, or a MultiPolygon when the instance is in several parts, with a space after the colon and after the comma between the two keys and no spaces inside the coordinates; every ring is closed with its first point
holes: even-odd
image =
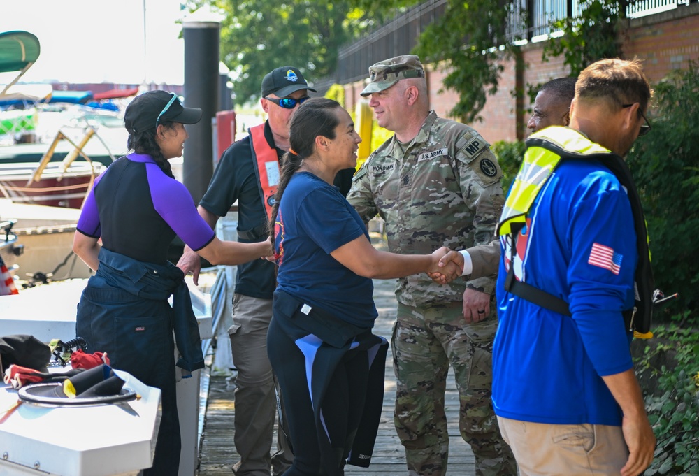
{"type": "MultiPolygon", "coordinates": [[[[22,403],[0,424],[0,475],[136,475],[150,468],[160,421],[160,390],[115,370],[140,398],[109,405],[22,403]]],[[[0,411],[17,403],[0,387],[0,411]]]]}

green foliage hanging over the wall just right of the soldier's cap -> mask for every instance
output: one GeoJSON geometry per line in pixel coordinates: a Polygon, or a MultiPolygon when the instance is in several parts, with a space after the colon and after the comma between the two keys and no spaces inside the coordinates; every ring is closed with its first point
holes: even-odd
{"type": "Polygon", "coordinates": [[[440,92],[452,89],[459,94],[459,101],[449,112],[452,117],[475,122],[487,94],[498,91],[498,77],[503,71],[498,59],[518,48],[505,41],[511,3],[447,0],[445,15],[421,34],[415,53],[426,63],[443,62],[449,73],[440,92]],[[494,48],[498,45],[503,45],[502,52],[494,48]]]}

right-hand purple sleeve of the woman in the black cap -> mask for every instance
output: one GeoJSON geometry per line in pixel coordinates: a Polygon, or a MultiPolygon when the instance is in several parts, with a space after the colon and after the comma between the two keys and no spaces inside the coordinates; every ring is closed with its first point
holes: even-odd
{"type": "Polygon", "coordinates": [[[199,216],[189,190],[157,165],[148,164],[146,170],[153,207],[173,231],[194,251],[211,243],[215,232],[199,216]]]}

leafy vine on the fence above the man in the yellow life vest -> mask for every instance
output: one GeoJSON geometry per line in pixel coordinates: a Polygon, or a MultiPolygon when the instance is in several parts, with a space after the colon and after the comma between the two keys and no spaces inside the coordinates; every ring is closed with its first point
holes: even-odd
{"type": "Polygon", "coordinates": [[[621,57],[619,31],[626,0],[582,0],[579,16],[553,22],[554,31],[563,36],[550,39],[544,45],[542,59],[563,55],[563,63],[570,66],[570,75],[576,76],[589,64],[603,58],[621,57]]]}

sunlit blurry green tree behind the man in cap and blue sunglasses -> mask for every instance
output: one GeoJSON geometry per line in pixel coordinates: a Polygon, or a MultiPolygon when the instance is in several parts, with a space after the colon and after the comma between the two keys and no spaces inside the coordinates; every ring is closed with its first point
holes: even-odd
{"type": "Polygon", "coordinates": [[[373,24],[348,1],[194,0],[189,8],[203,3],[224,13],[221,59],[236,104],[258,99],[262,78],[279,66],[296,66],[310,82],[331,75],[340,45],[373,24]]]}

